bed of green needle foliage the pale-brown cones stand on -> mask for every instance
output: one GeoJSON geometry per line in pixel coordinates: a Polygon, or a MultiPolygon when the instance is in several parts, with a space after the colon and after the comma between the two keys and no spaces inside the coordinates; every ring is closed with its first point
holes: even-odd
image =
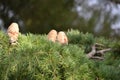
{"type": "Polygon", "coordinates": [[[69,45],[60,45],[48,41],[46,35],[20,34],[18,45],[10,46],[7,35],[0,32],[0,79],[119,80],[120,60],[111,58],[112,52],[104,61],[86,58],[86,45],[98,38],[75,30],[67,36],[69,45]]]}

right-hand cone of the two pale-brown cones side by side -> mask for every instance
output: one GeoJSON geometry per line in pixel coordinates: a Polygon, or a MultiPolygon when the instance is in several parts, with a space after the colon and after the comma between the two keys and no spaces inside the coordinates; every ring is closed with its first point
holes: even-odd
{"type": "Polygon", "coordinates": [[[57,41],[61,44],[68,44],[68,38],[63,31],[60,31],[57,35],[57,41]]]}

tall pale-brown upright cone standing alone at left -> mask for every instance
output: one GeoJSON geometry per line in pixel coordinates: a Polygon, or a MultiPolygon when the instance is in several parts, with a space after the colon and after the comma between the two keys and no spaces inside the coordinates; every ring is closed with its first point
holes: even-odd
{"type": "Polygon", "coordinates": [[[10,44],[14,45],[17,43],[18,35],[19,35],[19,27],[17,23],[12,23],[7,30],[7,34],[9,36],[10,44]]]}

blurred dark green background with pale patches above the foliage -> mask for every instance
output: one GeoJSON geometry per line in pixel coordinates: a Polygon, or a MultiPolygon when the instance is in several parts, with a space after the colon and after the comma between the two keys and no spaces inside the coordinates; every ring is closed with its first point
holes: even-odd
{"type": "Polygon", "coordinates": [[[120,38],[119,0],[0,0],[0,29],[17,22],[22,33],[78,29],[120,38]]]}

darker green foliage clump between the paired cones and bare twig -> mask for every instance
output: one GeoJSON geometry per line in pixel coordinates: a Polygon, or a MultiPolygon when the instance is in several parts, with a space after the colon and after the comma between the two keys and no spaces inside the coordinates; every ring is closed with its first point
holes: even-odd
{"type": "Polygon", "coordinates": [[[90,33],[84,34],[78,30],[70,30],[67,35],[69,37],[69,43],[80,46],[86,53],[90,51],[91,45],[95,42],[94,36],[90,33]]]}

